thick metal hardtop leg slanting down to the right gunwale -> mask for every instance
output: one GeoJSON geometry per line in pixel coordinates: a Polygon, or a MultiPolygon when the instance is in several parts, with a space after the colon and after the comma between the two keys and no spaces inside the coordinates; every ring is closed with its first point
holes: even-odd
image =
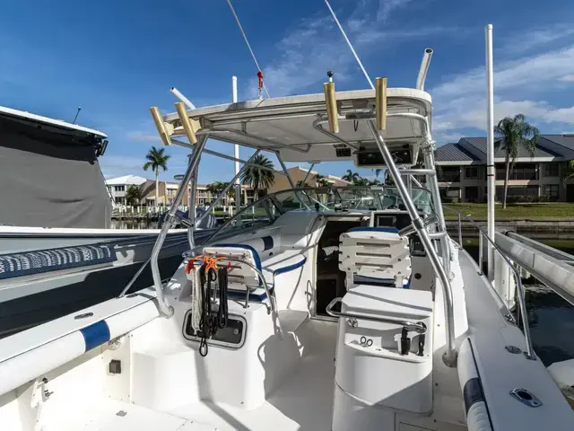
{"type": "MultiPolygon", "coordinates": [[[[409,216],[411,216],[411,219],[413,220],[413,227],[416,229],[416,232],[419,234],[419,237],[421,238],[424,250],[427,252],[429,259],[431,260],[432,268],[439,277],[440,284],[442,285],[443,296],[444,296],[444,307],[445,307],[445,323],[447,326],[446,328],[447,349],[444,355],[442,356],[442,359],[444,363],[448,366],[457,366],[457,347],[455,345],[455,317],[453,307],[453,295],[452,295],[452,287],[450,286],[450,281],[448,280],[447,272],[445,271],[445,268],[443,268],[442,265],[440,264],[439,256],[432,246],[431,239],[429,238],[429,233],[424,228],[424,224],[421,220],[421,217],[419,216],[419,213],[413,204],[413,199],[411,198],[411,195],[409,194],[409,191],[406,189],[406,186],[404,185],[404,182],[401,178],[401,172],[399,172],[399,170],[396,168],[396,164],[393,161],[392,155],[388,151],[383,136],[381,136],[380,133],[378,133],[378,130],[375,127],[373,121],[368,121],[367,124],[369,125],[372,135],[375,137],[375,142],[377,143],[378,150],[382,154],[383,159],[385,159],[387,169],[393,176],[393,180],[395,180],[396,189],[401,195],[401,198],[403,198],[404,206],[406,207],[409,216]]],[[[439,216],[439,214],[437,214],[437,216],[439,216]]]]}

